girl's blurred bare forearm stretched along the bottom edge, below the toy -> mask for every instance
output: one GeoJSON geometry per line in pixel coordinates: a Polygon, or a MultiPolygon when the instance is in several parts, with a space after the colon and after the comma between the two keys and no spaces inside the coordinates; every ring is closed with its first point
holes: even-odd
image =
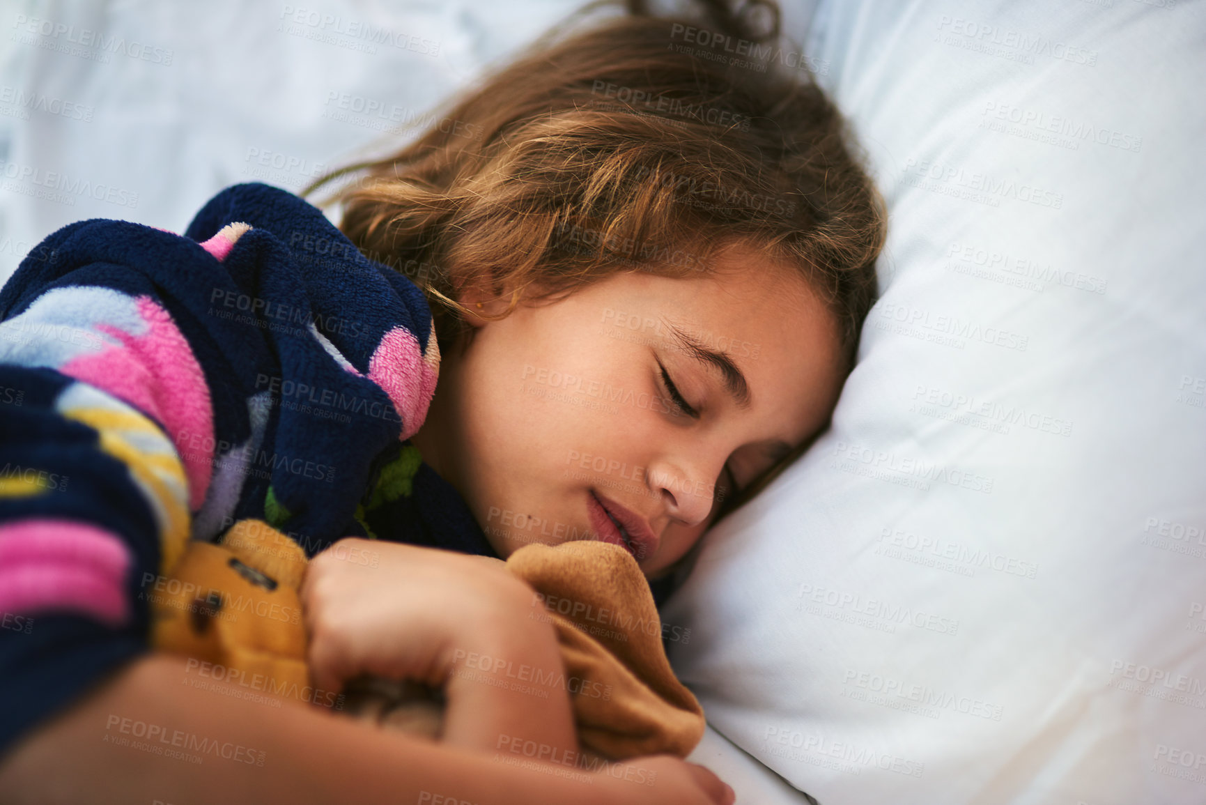
{"type": "Polygon", "coordinates": [[[411,740],[315,708],[238,701],[192,688],[186,678],[185,660],[171,657],[148,655],[124,666],[0,762],[4,801],[445,801],[437,797],[478,805],[731,801],[714,775],[677,758],[633,762],[656,771],[652,786],[607,774],[590,775],[585,782],[556,774],[563,768],[507,765],[487,753],[411,740]]]}

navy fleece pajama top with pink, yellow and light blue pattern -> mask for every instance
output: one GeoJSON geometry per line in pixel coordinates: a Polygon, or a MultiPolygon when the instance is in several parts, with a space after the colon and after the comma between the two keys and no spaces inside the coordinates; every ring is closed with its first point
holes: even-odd
{"type": "Polygon", "coordinates": [[[0,322],[0,752],[147,652],[150,584],[236,520],[309,555],[494,555],[408,442],[439,367],[422,292],[285,191],[230,187],[183,237],[66,226],[0,322]]]}

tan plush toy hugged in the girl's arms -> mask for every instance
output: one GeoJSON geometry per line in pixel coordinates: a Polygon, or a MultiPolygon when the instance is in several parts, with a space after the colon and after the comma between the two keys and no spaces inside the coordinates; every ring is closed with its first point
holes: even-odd
{"type": "MultiPolygon", "coordinates": [[[[152,596],[152,644],[221,666],[245,687],[343,710],[343,695],[310,686],[297,593],[305,565],[297,543],[262,520],[240,520],[221,544],[191,543],[165,593],[152,596]]],[[[695,748],[703,710],[671,670],[652,595],[626,550],[603,542],[532,544],[507,567],[537,591],[534,617],[554,623],[586,752],[620,760],[685,757],[695,748]]],[[[439,739],[439,692],[362,678],[346,695],[352,714],[439,739]]]]}

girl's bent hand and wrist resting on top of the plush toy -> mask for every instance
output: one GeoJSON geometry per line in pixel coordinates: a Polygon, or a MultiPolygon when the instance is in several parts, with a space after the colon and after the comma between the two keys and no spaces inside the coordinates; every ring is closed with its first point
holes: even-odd
{"type": "Polygon", "coordinates": [[[446,742],[578,749],[556,632],[502,562],[347,538],[310,561],[300,597],[315,687],[416,679],[444,687],[446,742]]]}

